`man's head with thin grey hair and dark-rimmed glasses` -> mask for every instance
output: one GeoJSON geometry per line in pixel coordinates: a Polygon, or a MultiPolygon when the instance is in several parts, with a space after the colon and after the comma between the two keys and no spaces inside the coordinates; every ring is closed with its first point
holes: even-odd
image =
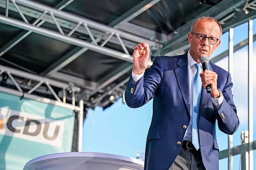
{"type": "Polygon", "coordinates": [[[200,17],[195,20],[188,33],[190,43],[190,55],[199,63],[202,57],[210,57],[220,45],[222,27],[212,17],[200,17]]]}

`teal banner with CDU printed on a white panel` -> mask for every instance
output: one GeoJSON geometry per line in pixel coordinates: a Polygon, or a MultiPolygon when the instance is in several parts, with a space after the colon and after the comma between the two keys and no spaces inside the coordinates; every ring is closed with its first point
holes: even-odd
{"type": "Polygon", "coordinates": [[[70,152],[72,110],[0,92],[0,170],[22,170],[38,156],[70,152]]]}

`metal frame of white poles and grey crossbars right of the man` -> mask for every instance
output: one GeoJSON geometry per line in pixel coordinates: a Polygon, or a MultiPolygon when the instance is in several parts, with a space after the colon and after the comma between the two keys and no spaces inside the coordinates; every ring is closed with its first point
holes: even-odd
{"type": "MultiPolygon", "coordinates": [[[[233,156],[236,154],[241,154],[241,169],[242,170],[250,170],[253,168],[253,150],[256,149],[255,142],[253,141],[253,42],[256,40],[256,34],[253,35],[252,29],[253,21],[248,20],[248,39],[241,41],[237,45],[234,46],[234,29],[229,29],[229,49],[224,51],[222,54],[214,57],[212,62],[217,62],[228,56],[228,70],[233,77],[233,61],[234,61],[234,52],[242,49],[246,45],[248,45],[248,131],[242,131],[241,139],[242,144],[233,147],[233,136],[228,135],[228,149],[222,150],[219,153],[220,159],[228,158],[228,169],[233,169],[233,156]]],[[[233,79],[233,78],[232,78],[233,79]]]]}

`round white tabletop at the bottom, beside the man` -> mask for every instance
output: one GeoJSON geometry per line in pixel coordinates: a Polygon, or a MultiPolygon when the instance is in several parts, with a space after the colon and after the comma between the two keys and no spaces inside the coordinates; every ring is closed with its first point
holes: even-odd
{"type": "Polygon", "coordinates": [[[116,154],[65,152],[30,160],[23,170],[143,170],[144,162],[116,154]]]}

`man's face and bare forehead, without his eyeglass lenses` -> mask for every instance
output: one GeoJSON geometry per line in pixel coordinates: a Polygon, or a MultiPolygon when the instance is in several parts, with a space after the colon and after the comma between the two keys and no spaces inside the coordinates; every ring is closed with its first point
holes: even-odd
{"type": "MultiPolygon", "coordinates": [[[[220,39],[220,27],[216,22],[207,19],[198,21],[194,27],[193,33],[220,39]]],[[[190,55],[197,63],[199,63],[202,57],[209,58],[213,51],[220,45],[220,40],[214,45],[209,44],[208,38],[203,42],[199,42],[196,40],[196,35],[192,33],[188,33],[188,42],[191,45],[190,55]]]]}

